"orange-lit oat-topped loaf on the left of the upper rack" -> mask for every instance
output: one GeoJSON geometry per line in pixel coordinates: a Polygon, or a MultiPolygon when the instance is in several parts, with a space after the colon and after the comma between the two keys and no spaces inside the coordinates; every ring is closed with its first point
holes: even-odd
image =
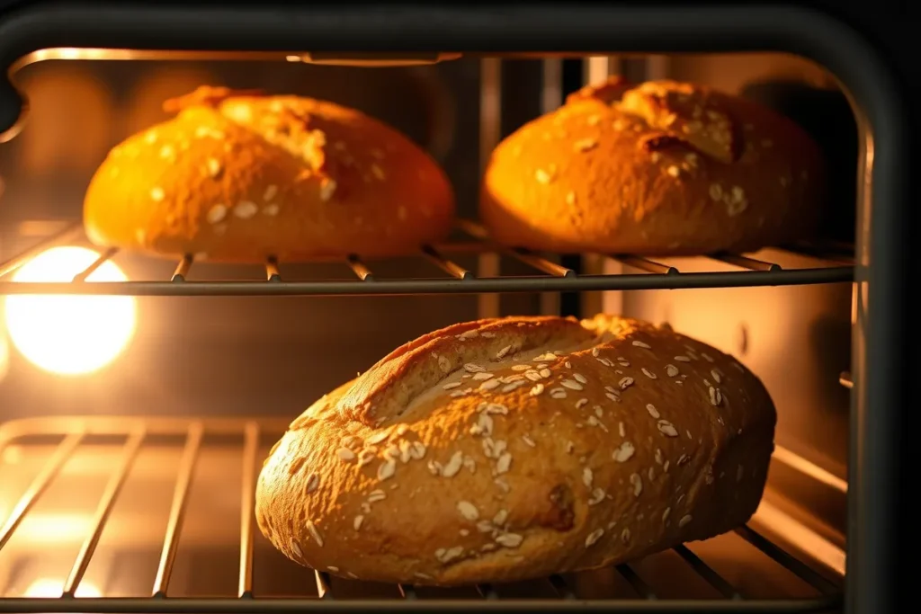
{"type": "Polygon", "coordinates": [[[391,127],[311,98],[200,87],[116,146],[89,184],[87,236],[210,261],[412,253],[450,230],[437,163],[391,127]]]}

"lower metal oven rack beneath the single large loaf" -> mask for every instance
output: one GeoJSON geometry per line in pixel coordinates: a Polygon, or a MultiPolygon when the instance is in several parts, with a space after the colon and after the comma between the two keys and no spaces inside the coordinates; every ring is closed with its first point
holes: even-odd
{"type": "MultiPolygon", "coordinates": [[[[477,585],[478,598],[427,598],[417,594],[411,585],[400,585],[391,599],[340,598],[332,585],[332,578],[321,571],[312,571],[310,583],[316,584],[316,597],[276,597],[253,591],[253,541],[256,538],[252,514],[255,481],[262,440],[277,437],[286,429],[286,423],[277,420],[248,421],[241,419],[196,418],[122,418],[122,417],[52,417],[32,418],[0,424],[0,458],[6,449],[25,445],[38,439],[52,446],[47,458],[42,457],[40,469],[18,499],[6,523],[0,527],[0,553],[9,543],[30,510],[37,504],[52,481],[59,478],[68,459],[90,438],[107,438],[109,445],[118,446],[120,460],[112,466],[105,489],[96,505],[95,515],[88,526],[82,547],[71,566],[60,597],[3,597],[0,593],[0,612],[190,612],[239,613],[343,611],[343,612],[444,612],[482,609],[488,611],[596,611],[596,612],[812,612],[840,609],[843,594],[840,578],[827,579],[762,533],[749,526],[738,527],[736,534],[746,547],[760,550],[773,562],[799,577],[809,585],[815,597],[746,598],[722,575],[708,565],[702,557],[686,546],[673,551],[697,573],[705,583],[716,589],[720,598],[672,599],[656,595],[636,564],[615,566],[616,573],[635,593],[629,599],[585,599],[560,576],[542,581],[552,587],[553,598],[501,597],[501,587],[477,585]],[[177,549],[181,540],[192,484],[192,473],[201,456],[205,436],[233,437],[239,440],[233,453],[241,465],[241,510],[239,520],[239,582],[236,597],[170,597],[169,583],[173,573],[177,549]],[[99,538],[110,517],[111,510],[122,492],[139,451],[154,437],[173,437],[181,444],[181,457],[173,486],[169,519],[159,550],[159,562],[153,587],[148,597],[76,597],[76,591],[87,572],[90,561],[99,545],[99,538]]],[[[88,445],[88,444],[87,444],[88,445]]],[[[107,465],[107,468],[109,466],[107,465]]],[[[6,470],[9,470],[6,468],[6,470]]],[[[3,475],[0,471],[0,481],[3,475]]],[[[159,543],[159,540],[157,540],[159,543]]],[[[292,565],[294,563],[291,563],[292,565]]],[[[305,573],[311,573],[305,570],[305,573]]],[[[0,589],[3,587],[0,586],[0,589]]],[[[437,589],[436,589],[437,590],[437,589]]]]}

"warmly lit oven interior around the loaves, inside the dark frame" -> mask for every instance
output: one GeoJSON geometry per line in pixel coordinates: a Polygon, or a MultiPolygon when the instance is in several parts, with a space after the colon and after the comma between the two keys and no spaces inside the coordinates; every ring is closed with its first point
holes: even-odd
{"type": "Polygon", "coordinates": [[[30,608],[18,597],[48,598],[29,611],[84,611],[51,601],[62,595],[114,599],[105,609],[87,602],[97,608],[87,611],[122,612],[331,601],[457,608],[464,599],[588,600],[624,611],[841,606],[859,133],[821,66],[780,53],[463,55],[373,68],[297,56],[59,57],[23,65],[16,78],[29,121],[0,145],[0,611],[30,608]],[[485,156],[568,92],[615,73],[712,85],[799,122],[834,178],[822,237],[655,260],[493,246],[475,222],[485,156]],[[326,98],[391,123],[446,169],[462,220],[456,236],[415,258],[365,261],[356,248],[348,261],[263,267],[95,249],[71,253],[44,280],[68,283],[70,295],[17,290],[17,269],[41,252],[87,248],[74,225],[111,146],[166,119],[162,100],[203,84],[326,98]],[[94,285],[81,271],[111,263],[146,290],[76,295],[94,285]],[[687,275],[702,272],[715,281],[704,287],[687,275]],[[446,282],[468,285],[444,290],[446,282]],[[32,317],[11,320],[10,301],[21,314],[27,300],[40,301],[29,304],[32,317]],[[667,321],[764,380],[779,414],[777,446],[748,526],[612,569],[464,589],[330,577],[288,562],[254,530],[255,472],[269,446],[312,400],[393,347],[466,319],[602,310],[667,321]],[[123,326],[113,324],[125,313],[123,326]],[[32,346],[17,346],[13,326],[32,327],[17,338],[32,346]],[[104,365],[66,372],[89,369],[106,348],[104,365]]]}

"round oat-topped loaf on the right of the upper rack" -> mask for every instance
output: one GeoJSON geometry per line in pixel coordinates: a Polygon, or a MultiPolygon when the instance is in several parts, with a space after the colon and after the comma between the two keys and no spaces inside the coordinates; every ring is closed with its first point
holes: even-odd
{"type": "Polygon", "coordinates": [[[807,237],[821,152],[794,122],[706,87],[586,87],[499,144],[480,215],[507,245],[696,255],[807,237]]]}

